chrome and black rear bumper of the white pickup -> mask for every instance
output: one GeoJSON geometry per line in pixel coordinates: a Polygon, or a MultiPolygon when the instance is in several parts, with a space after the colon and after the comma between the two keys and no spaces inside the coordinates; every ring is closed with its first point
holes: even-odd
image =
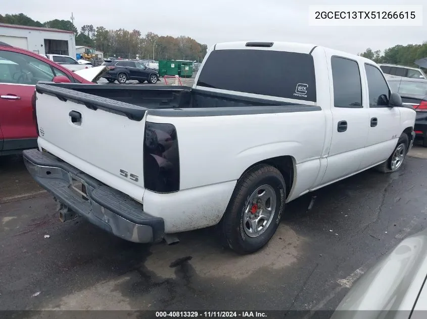
{"type": "Polygon", "coordinates": [[[23,157],[28,171],[43,188],[92,224],[132,242],[163,239],[163,218],[145,213],[143,205],[127,195],[49,153],[27,150],[23,157]],[[81,185],[86,195],[76,190],[81,185]]]}

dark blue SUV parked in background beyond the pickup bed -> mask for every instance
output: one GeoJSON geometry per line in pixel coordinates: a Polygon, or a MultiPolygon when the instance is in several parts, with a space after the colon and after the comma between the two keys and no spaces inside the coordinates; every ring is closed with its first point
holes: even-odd
{"type": "Polygon", "coordinates": [[[128,80],[138,80],[139,83],[147,81],[156,84],[159,80],[159,73],[151,68],[147,68],[143,63],[132,60],[104,60],[103,66],[107,66],[110,71],[103,78],[108,82],[114,81],[120,84],[128,80]]]}

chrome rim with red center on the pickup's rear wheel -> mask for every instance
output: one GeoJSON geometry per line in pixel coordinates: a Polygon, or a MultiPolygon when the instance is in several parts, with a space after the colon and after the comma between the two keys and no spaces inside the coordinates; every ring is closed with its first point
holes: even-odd
{"type": "Polygon", "coordinates": [[[249,197],[243,214],[243,228],[249,237],[264,233],[273,220],[277,197],[270,185],[259,186],[249,197]]]}

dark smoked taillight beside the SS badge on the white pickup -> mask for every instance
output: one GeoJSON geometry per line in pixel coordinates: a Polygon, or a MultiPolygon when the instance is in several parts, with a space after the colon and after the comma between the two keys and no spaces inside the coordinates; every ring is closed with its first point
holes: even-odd
{"type": "Polygon", "coordinates": [[[144,187],[157,193],[179,190],[179,150],[175,126],[146,122],[144,187]]]}

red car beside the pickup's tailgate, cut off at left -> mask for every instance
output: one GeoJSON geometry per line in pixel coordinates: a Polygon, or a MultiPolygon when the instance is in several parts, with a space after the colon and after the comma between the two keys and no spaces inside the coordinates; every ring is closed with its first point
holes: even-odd
{"type": "Polygon", "coordinates": [[[40,54],[0,42],[0,155],[37,147],[38,81],[93,84],[40,54]]]}

